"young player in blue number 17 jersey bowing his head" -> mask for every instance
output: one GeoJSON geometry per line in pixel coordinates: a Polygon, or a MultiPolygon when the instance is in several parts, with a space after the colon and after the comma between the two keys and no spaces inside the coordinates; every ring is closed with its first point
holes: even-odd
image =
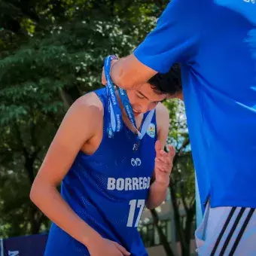
{"type": "Polygon", "coordinates": [[[44,255],[148,255],[137,227],[144,206],[153,209],[166,198],[175,150],[163,151],[169,112],[160,102],[169,83],[176,96],[180,93],[177,74],[172,69],[156,75],[127,93],[136,126],[145,132],[138,148],[138,131],[123,107],[123,129],[109,138],[105,88],[82,96],[69,109],[30,194],[53,221],[44,255]]]}

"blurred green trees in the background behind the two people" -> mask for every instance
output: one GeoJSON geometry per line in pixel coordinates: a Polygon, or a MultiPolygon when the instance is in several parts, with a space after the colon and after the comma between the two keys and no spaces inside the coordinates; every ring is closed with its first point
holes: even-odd
{"type": "MultiPolygon", "coordinates": [[[[30,203],[29,190],[63,115],[79,96],[102,87],[105,56],[131,53],[168,2],[0,1],[0,237],[47,231],[49,221],[30,203]]],[[[178,152],[174,200],[188,211],[194,166],[184,105],[165,104],[169,142],[178,152]]]]}

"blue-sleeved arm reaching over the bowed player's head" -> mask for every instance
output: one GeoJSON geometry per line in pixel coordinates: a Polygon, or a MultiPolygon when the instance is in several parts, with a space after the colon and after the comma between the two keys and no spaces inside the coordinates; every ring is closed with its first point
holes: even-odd
{"type": "Polygon", "coordinates": [[[172,0],[134,53],[114,62],[114,83],[135,89],[157,72],[169,72],[174,62],[192,59],[199,41],[201,5],[200,0],[172,0]]]}

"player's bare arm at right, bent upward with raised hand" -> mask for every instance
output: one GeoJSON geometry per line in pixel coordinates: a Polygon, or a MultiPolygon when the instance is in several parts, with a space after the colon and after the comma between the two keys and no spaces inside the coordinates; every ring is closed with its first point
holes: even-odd
{"type": "Polygon", "coordinates": [[[169,186],[169,175],[172,170],[172,159],[175,151],[170,148],[169,153],[163,151],[169,133],[169,111],[162,104],[157,105],[157,143],[156,143],[156,163],[154,170],[154,181],[149,188],[146,206],[154,209],[166,200],[166,192],[169,186]],[[162,152],[163,151],[163,152],[162,152]],[[163,162],[157,162],[163,159],[163,162]]]}

